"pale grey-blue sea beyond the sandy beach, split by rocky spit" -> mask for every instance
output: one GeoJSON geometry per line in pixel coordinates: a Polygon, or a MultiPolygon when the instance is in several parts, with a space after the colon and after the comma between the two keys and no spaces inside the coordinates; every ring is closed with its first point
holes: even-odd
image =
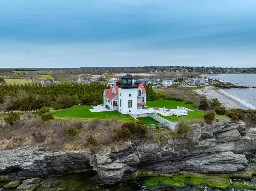
{"type": "MultiPolygon", "coordinates": [[[[211,78],[229,81],[244,86],[256,87],[256,74],[219,74],[209,75],[211,78]]],[[[222,89],[220,90],[226,96],[229,96],[250,109],[256,109],[256,88],[249,89],[222,89]]]]}

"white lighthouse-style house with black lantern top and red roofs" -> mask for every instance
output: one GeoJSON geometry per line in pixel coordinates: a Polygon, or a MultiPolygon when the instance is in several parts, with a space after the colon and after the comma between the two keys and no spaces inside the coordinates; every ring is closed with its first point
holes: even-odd
{"type": "Polygon", "coordinates": [[[127,74],[121,78],[121,82],[104,90],[103,99],[106,108],[127,114],[131,110],[145,109],[146,90],[143,84],[135,82],[134,78],[127,74]]]}

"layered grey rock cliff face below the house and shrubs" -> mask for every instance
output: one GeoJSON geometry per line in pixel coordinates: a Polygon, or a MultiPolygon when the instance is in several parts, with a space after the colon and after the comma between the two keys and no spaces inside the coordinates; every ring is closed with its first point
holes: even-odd
{"type": "Polygon", "coordinates": [[[155,142],[125,142],[104,151],[48,153],[44,147],[20,147],[0,152],[0,180],[44,177],[94,170],[105,183],[120,181],[137,170],[152,173],[234,173],[248,167],[244,154],[255,150],[256,128],[243,122],[196,124],[187,137],[161,137],[155,142]]]}

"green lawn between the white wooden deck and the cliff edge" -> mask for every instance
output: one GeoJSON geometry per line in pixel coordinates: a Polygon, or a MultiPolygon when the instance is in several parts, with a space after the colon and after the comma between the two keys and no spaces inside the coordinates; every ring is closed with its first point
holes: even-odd
{"type": "MultiPolygon", "coordinates": [[[[162,116],[161,114],[157,114],[162,118],[167,119],[168,121],[171,122],[178,122],[180,119],[186,119],[186,120],[195,120],[195,119],[203,119],[203,115],[206,113],[202,113],[202,112],[193,112],[193,111],[188,111],[188,115],[187,116],[162,116]]],[[[224,115],[217,115],[215,114],[215,118],[218,119],[223,119],[223,118],[228,118],[227,116],[224,115]]]]}

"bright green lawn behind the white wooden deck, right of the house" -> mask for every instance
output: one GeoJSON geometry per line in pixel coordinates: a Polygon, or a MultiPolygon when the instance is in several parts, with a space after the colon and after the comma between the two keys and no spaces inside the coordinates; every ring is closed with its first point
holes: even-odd
{"type": "Polygon", "coordinates": [[[174,101],[174,100],[165,100],[165,99],[159,99],[155,101],[147,101],[148,107],[165,107],[166,109],[177,109],[177,106],[186,107],[191,110],[197,110],[193,105],[190,104],[184,104],[183,101],[174,101]]]}

